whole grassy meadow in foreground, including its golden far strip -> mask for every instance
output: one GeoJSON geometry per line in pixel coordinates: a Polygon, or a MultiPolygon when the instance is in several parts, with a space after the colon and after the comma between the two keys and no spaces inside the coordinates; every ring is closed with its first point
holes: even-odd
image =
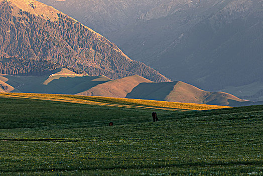
{"type": "Polygon", "coordinates": [[[0,175],[262,175],[263,106],[218,108],[0,94],[0,175]]]}

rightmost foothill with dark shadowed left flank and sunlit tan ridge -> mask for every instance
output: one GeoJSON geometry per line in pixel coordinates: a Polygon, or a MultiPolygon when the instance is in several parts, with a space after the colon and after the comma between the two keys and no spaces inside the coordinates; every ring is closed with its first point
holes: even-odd
{"type": "Polygon", "coordinates": [[[238,99],[230,94],[203,91],[182,81],[141,83],[127,95],[127,98],[192,102],[224,106],[240,106],[251,103],[238,99]]]}

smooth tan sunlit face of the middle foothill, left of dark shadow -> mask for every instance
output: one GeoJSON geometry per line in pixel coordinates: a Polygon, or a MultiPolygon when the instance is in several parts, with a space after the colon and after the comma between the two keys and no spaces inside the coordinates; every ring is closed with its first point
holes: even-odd
{"type": "Polygon", "coordinates": [[[88,91],[79,93],[78,95],[125,98],[134,87],[142,82],[152,81],[138,75],[127,76],[103,84],[98,84],[88,91]]]}

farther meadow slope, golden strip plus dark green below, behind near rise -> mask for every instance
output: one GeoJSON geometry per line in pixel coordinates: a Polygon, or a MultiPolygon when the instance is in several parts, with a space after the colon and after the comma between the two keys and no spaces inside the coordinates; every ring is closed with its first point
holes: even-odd
{"type": "Polygon", "coordinates": [[[3,128],[82,123],[192,110],[226,108],[199,104],[50,94],[0,94],[3,128]],[[11,113],[12,109],[16,113],[11,113]],[[61,115],[63,114],[63,116],[61,115]],[[7,125],[8,124],[8,125],[7,125]]]}

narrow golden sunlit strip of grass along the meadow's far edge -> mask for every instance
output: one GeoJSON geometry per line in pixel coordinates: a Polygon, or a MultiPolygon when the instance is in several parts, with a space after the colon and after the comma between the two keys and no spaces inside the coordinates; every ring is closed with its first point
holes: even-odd
{"type": "Polygon", "coordinates": [[[17,97],[39,100],[51,100],[78,104],[103,105],[128,108],[155,108],[169,110],[211,110],[229,108],[225,106],[203,105],[194,103],[176,103],[153,100],[137,100],[123,98],[107,98],[107,97],[90,97],[90,96],[74,96],[74,95],[53,95],[53,94],[24,94],[24,93],[1,93],[0,97],[17,97]]]}

